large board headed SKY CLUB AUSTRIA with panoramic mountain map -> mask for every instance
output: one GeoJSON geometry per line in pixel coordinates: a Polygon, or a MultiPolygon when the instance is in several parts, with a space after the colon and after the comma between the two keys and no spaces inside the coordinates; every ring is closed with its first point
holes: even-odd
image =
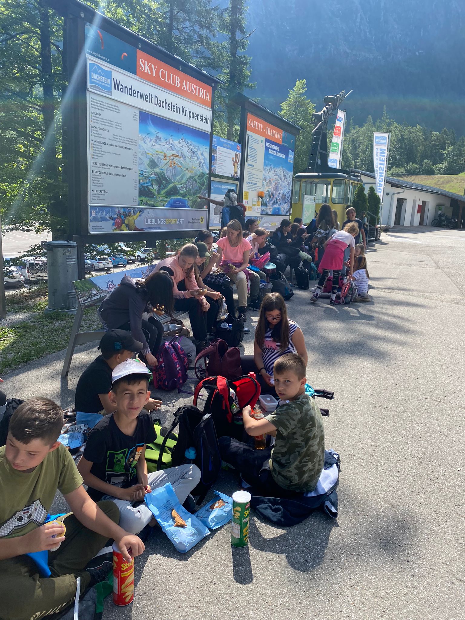
{"type": "Polygon", "coordinates": [[[89,233],[205,228],[212,88],[86,25],[89,233]]]}

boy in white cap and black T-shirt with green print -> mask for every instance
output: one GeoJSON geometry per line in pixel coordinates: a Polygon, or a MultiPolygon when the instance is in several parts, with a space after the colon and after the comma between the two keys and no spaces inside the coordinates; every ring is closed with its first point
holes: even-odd
{"type": "Polygon", "coordinates": [[[115,502],[121,526],[134,534],[155,525],[144,495],[170,482],[184,504],[200,481],[200,469],[193,464],[147,473],[145,448],[156,433],[150,415],[141,411],[150,398],[151,374],[138,360],[126,360],[113,370],[108,397],[115,411],[92,428],[78,465],[89,495],[115,502]]]}

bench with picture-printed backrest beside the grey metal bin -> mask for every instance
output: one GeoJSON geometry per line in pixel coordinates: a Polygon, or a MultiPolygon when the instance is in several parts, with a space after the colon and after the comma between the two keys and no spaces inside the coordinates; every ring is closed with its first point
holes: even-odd
{"type": "MultiPolygon", "coordinates": [[[[74,317],[73,329],[71,329],[71,335],[69,336],[68,348],[66,349],[66,355],[64,356],[63,370],[61,371],[61,378],[68,376],[69,368],[71,367],[71,360],[73,360],[74,349],[77,345],[84,345],[87,342],[94,342],[100,340],[105,334],[105,330],[94,329],[91,332],[81,332],[81,322],[84,316],[84,310],[87,308],[93,308],[100,306],[102,301],[118,286],[120,281],[125,275],[131,278],[145,278],[147,267],[137,267],[133,269],[124,270],[115,273],[106,273],[105,275],[97,275],[92,278],[86,278],[86,280],[76,280],[73,282],[74,290],[76,291],[76,298],[78,299],[78,309],[76,310],[76,316],[74,317]]],[[[174,316],[179,317],[185,314],[185,312],[175,312],[174,316]]],[[[162,314],[156,317],[158,321],[165,324],[171,319],[167,314],[162,314]]]]}

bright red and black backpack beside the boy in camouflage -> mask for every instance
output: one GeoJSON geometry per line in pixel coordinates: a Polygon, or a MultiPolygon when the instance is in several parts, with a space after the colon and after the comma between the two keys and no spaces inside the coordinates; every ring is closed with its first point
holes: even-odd
{"type": "Polygon", "coordinates": [[[253,409],[260,396],[260,384],[251,375],[253,373],[232,380],[221,376],[207,377],[197,384],[193,405],[197,407],[199,392],[205,389],[208,396],[203,414],[211,414],[218,437],[228,436],[242,440],[242,409],[247,405],[253,409]]]}

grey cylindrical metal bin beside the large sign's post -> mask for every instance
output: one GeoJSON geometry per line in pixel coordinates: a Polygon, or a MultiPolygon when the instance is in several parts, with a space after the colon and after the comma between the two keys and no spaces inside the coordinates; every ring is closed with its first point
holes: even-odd
{"type": "Polygon", "coordinates": [[[74,241],[46,241],[48,306],[45,312],[70,312],[78,308],[73,282],[78,280],[78,245],[74,241]]]}

